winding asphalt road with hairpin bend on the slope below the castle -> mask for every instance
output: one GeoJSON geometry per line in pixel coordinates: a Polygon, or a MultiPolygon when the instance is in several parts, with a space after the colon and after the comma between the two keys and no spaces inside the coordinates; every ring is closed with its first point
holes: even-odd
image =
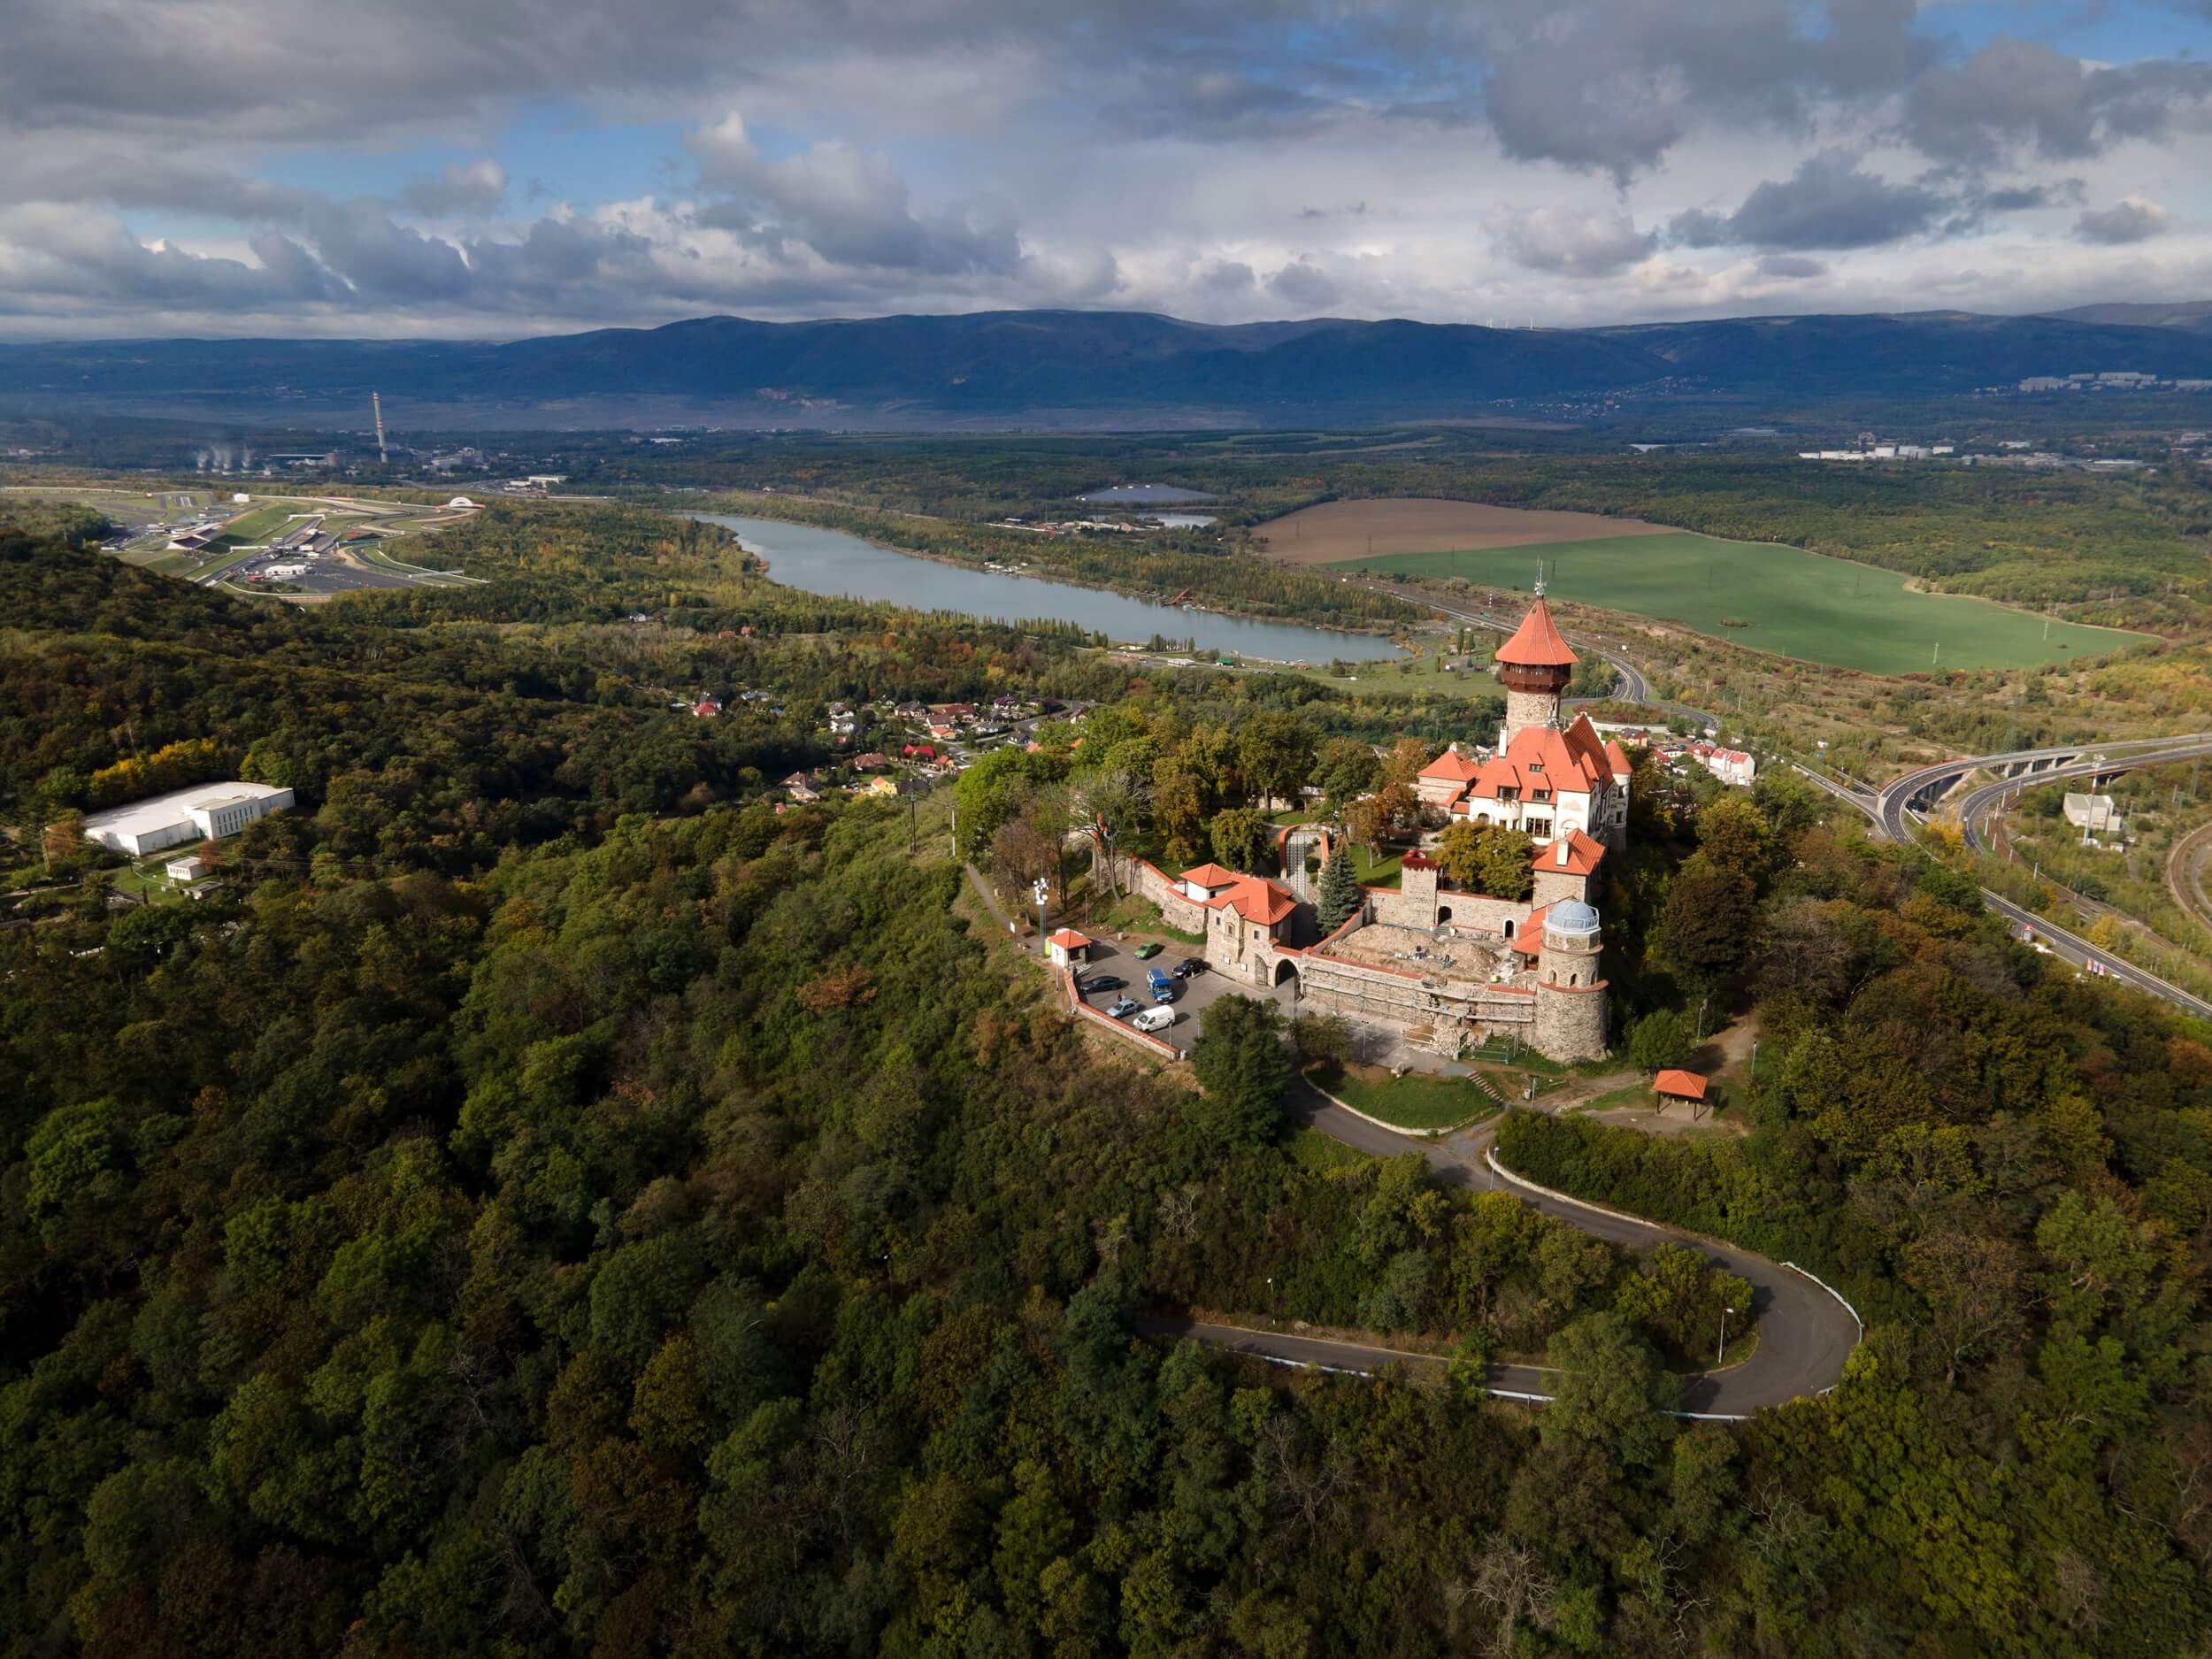
{"type": "MultiPolygon", "coordinates": [[[[1807,1394],[1825,1394],[1843,1376],[1843,1360],[1858,1343],[1858,1316],[1829,1290],[1781,1263],[1736,1245],[1699,1239],[1697,1234],[1635,1221],[1610,1210],[1597,1210],[1573,1199],[1548,1197],[1522,1181],[1500,1175],[1491,1164],[1498,1130],[1491,1124],[1462,1130],[1444,1141],[1416,1141],[1396,1135],[1365,1117],[1345,1110],[1327,1095],[1298,1079],[1285,1099],[1290,1117],[1318,1128],[1334,1141],[1360,1152],[1396,1157],[1418,1150],[1429,1159],[1436,1179],[1478,1192],[1513,1192],[1522,1203],[1557,1217],[1610,1243],[1644,1248],[1655,1243],[1692,1245],[1708,1261],[1745,1279],[1752,1287],[1752,1310],[1759,1314],[1759,1347],[1741,1365],[1725,1371],[1697,1371],[1683,1378],[1681,1411],[1708,1418],[1747,1418],[1770,1405],[1783,1405],[1807,1394]]],[[[1210,1347],[1259,1354],[1281,1365],[1307,1365],[1332,1371],[1374,1374],[1385,1365],[1409,1369],[1436,1367],[1433,1354],[1367,1343],[1338,1343],[1321,1336],[1287,1336],[1254,1332],[1239,1325],[1208,1325],[1190,1318],[1150,1316],[1139,1325],[1152,1336],[1192,1336],[1210,1347]]],[[[1719,1332],[1714,1332],[1719,1340],[1719,1332]]],[[[1489,1385],[1495,1394],[1531,1400],[1551,1398],[1553,1371],[1535,1365],[1493,1365],[1489,1385]]]]}

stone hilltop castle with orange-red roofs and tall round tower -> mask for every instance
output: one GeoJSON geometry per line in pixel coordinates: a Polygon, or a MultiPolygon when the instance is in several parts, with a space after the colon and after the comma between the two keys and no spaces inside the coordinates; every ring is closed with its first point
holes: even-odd
{"type": "Polygon", "coordinates": [[[1245,984],[1296,984],[1305,1004],[1391,1024],[1447,1055],[1515,1037],[1551,1060],[1601,1057],[1604,938],[1590,898],[1606,852],[1626,845],[1628,757],[1586,714],[1559,726],[1577,659],[1542,593],[1498,661],[1506,686],[1498,752],[1475,761],[1447,748],[1416,792],[1449,821],[1535,836],[1528,898],[1444,887],[1436,858],[1416,849],[1400,860],[1396,889],[1365,889],[1343,927],[1301,947],[1292,940],[1310,911],[1267,876],[1219,865],[1166,876],[1128,860],[1139,891],[1170,927],[1203,933],[1208,964],[1245,984]]]}

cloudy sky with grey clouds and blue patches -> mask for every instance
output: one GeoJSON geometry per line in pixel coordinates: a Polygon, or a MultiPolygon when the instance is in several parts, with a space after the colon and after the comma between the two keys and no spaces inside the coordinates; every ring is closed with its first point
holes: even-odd
{"type": "Polygon", "coordinates": [[[2212,296],[2212,0],[0,0],[0,338],[2212,296]]]}

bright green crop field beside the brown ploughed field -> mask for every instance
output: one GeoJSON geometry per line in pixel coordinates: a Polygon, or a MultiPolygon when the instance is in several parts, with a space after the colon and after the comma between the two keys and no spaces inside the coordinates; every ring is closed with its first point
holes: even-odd
{"type": "Polygon", "coordinates": [[[1455,553],[1385,553],[1329,568],[1394,577],[1467,577],[1526,588],[1548,566],[1557,599],[1679,622],[1776,657],[1909,675],[2075,661],[2148,635],[2044,622],[1989,599],[1907,593],[1905,577],[1772,542],[1679,531],[1455,553]],[[2048,637],[2046,637],[2048,633],[2048,637]]]}

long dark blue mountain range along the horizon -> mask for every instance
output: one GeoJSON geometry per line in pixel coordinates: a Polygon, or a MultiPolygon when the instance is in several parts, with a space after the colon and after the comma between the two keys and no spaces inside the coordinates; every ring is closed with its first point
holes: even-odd
{"type": "Polygon", "coordinates": [[[234,420],[787,427],[1292,425],[1517,411],[1593,398],[1911,398],[2033,374],[2212,376],[2212,303],[2055,316],[1747,316],[1595,330],[1248,323],[982,312],[754,323],[701,316],[511,343],[91,341],[0,345],[0,398],[234,420]],[[628,411],[628,414],[617,414],[628,411]]]}

